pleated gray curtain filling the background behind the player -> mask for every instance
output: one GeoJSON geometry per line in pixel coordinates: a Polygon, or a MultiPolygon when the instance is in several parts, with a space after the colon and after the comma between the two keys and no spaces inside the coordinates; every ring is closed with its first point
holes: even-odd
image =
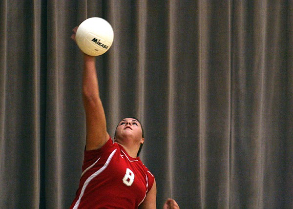
{"type": "Polygon", "coordinates": [[[114,29],[97,57],[113,136],[144,125],[157,207],[293,208],[292,0],[0,0],[0,208],[69,208],[85,143],[71,30],[114,29]]]}

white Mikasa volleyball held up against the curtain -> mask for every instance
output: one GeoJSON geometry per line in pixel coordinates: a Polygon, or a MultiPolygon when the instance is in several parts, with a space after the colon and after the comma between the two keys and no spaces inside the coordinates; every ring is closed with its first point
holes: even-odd
{"type": "Polygon", "coordinates": [[[87,55],[99,56],[109,50],[114,32],[110,23],[103,18],[88,18],[83,21],[75,34],[78,47],[87,55]]]}

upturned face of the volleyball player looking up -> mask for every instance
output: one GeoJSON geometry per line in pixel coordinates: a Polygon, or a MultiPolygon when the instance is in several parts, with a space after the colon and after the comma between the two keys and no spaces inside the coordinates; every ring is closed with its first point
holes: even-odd
{"type": "Polygon", "coordinates": [[[125,118],[118,124],[116,128],[115,141],[122,139],[133,139],[138,143],[143,143],[141,124],[133,118],[125,118]]]}

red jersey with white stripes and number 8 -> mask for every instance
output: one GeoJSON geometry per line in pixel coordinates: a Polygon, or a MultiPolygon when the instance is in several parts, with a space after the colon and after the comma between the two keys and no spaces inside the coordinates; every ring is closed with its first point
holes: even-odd
{"type": "Polygon", "coordinates": [[[130,157],[110,138],[100,149],[84,151],[83,173],[70,209],[137,209],[153,183],[140,158],[130,157]]]}

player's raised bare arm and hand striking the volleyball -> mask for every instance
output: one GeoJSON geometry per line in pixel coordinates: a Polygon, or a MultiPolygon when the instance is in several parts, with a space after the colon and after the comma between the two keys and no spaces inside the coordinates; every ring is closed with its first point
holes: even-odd
{"type": "MultiPolygon", "coordinates": [[[[71,36],[75,40],[77,27],[71,36]]],[[[98,149],[109,139],[104,107],[100,98],[96,58],[84,54],[83,101],[86,116],[86,150],[98,149]]]]}

